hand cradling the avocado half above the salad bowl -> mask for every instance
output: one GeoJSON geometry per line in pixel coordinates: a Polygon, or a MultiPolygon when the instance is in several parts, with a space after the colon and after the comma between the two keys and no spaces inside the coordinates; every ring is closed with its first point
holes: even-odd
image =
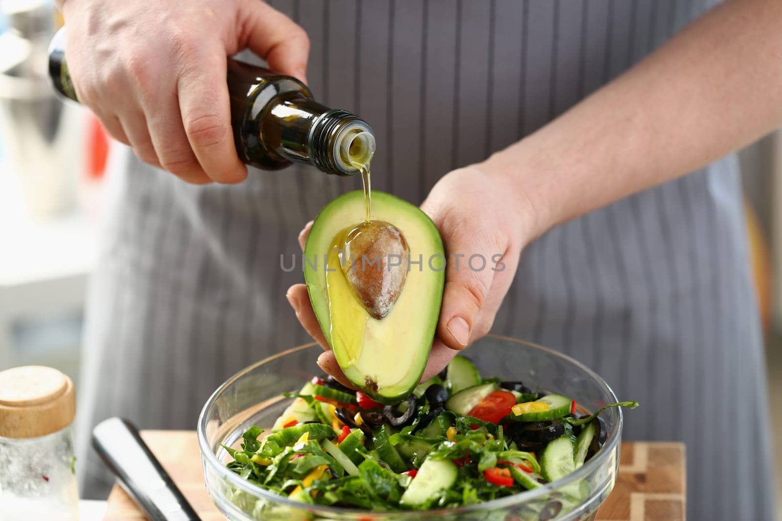
{"type": "MultiPolygon", "coordinates": [[[[448,258],[443,305],[423,376],[426,380],[447,366],[457,351],[489,332],[513,281],[522,247],[533,237],[534,219],[524,200],[511,196],[507,187],[479,167],[454,170],[443,177],[421,209],[439,228],[448,258]]],[[[302,248],[310,226],[299,235],[302,248]]],[[[317,359],[318,365],[350,386],[328,351],[307,286],[290,287],[287,297],[304,329],[326,350],[317,359]]]]}

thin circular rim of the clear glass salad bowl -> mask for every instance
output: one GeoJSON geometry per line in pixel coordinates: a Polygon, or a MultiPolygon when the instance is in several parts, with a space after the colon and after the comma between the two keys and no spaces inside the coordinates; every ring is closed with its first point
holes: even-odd
{"type": "MultiPolygon", "coordinates": [[[[498,340],[503,340],[503,341],[511,341],[517,344],[523,344],[529,348],[545,351],[550,355],[554,355],[560,359],[563,359],[565,360],[565,362],[569,362],[572,365],[581,369],[584,373],[590,376],[590,378],[596,381],[600,387],[603,387],[603,390],[607,392],[608,396],[612,398],[613,402],[619,401],[618,398],[616,398],[616,394],[614,394],[612,388],[608,385],[608,383],[605,380],[601,378],[601,376],[597,375],[597,373],[595,373],[589,367],[585,366],[582,362],[579,362],[576,359],[572,359],[568,355],[564,355],[558,351],[554,351],[554,349],[546,348],[543,347],[542,345],[534,344],[533,342],[529,342],[529,341],[520,340],[518,338],[505,337],[499,334],[487,334],[486,337],[496,338],[498,340]]],[[[217,395],[221,394],[221,391],[223,391],[226,387],[233,384],[236,380],[244,376],[246,373],[253,371],[258,366],[262,366],[267,362],[271,362],[272,360],[281,358],[291,353],[312,348],[316,345],[317,342],[309,342],[307,344],[301,344],[296,347],[286,349],[285,351],[280,351],[278,353],[275,353],[274,355],[268,356],[265,359],[259,360],[258,362],[255,362],[245,367],[244,369],[240,370],[238,373],[235,373],[234,376],[228,378],[228,380],[225,380],[220,387],[217,387],[217,389],[210,395],[209,399],[206,400],[206,403],[203,405],[203,408],[201,409],[201,412],[199,414],[199,419],[198,419],[198,428],[197,428],[198,444],[199,444],[199,449],[201,451],[203,466],[206,466],[207,464],[210,465],[213,469],[217,470],[217,473],[219,473],[225,480],[228,480],[229,484],[238,487],[239,489],[242,489],[243,491],[246,491],[249,494],[259,496],[259,498],[264,498],[265,500],[271,501],[272,503],[278,503],[279,505],[286,505],[295,509],[306,510],[307,512],[316,513],[316,514],[319,512],[323,512],[328,514],[361,516],[370,512],[372,516],[386,516],[392,514],[399,516],[400,514],[415,515],[415,514],[421,514],[421,512],[426,512],[428,516],[439,515],[439,514],[453,515],[453,514],[464,513],[464,512],[477,512],[486,509],[504,509],[504,508],[511,507],[513,505],[518,505],[518,503],[522,501],[535,499],[544,494],[551,494],[552,492],[557,491],[559,488],[564,487],[567,484],[582,479],[583,477],[587,476],[587,474],[589,474],[593,469],[597,468],[597,466],[599,466],[602,462],[604,462],[604,460],[608,459],[609,457],[608,455],[614,452],[614,449],[617,447],[617,444],[619,444],[619,441],[621,440],[622,437],[621,434],[622,434],[622,426],[624,423],[624,418],[622,415],[622,408],[617,407],[616,409],[617,412],[619,413],[619,421],[616,422],[614,428],[606,437],[605,444],[603,445],[603,447],[601,447],[600,451],[598,451],[597,454],[594,455],[592,459],[584,463],[584,465],[581,466],[579,469],[576,469],[572,473],[569,473],[567,476],[559,480],[551,481],[550,483],[547,484],[542,484],[540,485],[540,487],[536,487],[532,490],[523,491],[518,494],[512,494],[504,498],[493,499],[491,501],[475,503],[474,505],[465,505],[465,506],[450,508],[450,509],[445,508],[445,509],[409,510],[409,511],[408,510],[361,510],[361,509],[348,509],[346,507],[333,507],[333,506],[326,506],[326,505],[310,505],[307,503],[302,503],[300,501],[293,501],[292,499],[286,498],[285,496],[281,496],[279,494],[274,494],[274,492],[267,491],[264,488],[256,487],[255,485],[249,483],[249,481],[239,477],[238,474],[231,472],[231,470],[229,470],[228,467],[224,466],[217,459],[217,455],[210,447],[209,442],[206,441],[206,411],[207,409],[210,408],[210,405],[213,405],[214,401],[217,398],[217,395]]],[[[203,469],[203,473],[206,475],[206,468],[203,469]]]]}

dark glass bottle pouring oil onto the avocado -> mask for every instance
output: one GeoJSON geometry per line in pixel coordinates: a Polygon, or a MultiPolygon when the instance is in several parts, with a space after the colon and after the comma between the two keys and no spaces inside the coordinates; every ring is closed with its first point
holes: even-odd
{"type": "MultiPolygon", "coordinates": [[[[61,29],[49,48],[49,75],[57,91],[78,102],[64,43],[61,29]]],[[[228,92],[236,150],[248,165],[278,170],[305,162],[352,176],[375,153],[375,135],[364,120],[314,101],[296,78],[228,59],[228,92]]]]}

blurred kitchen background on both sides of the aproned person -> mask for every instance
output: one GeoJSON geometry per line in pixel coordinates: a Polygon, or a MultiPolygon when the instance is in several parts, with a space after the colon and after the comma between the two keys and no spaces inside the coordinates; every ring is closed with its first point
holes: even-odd
{"type": "MultiPolygon", "coordinates": [[[[53,366],[78,392],[109,139],[88,110],[52,94],[46,49],[60,23],[50,0],[0,0],[0,370],[53,366]]],[[[742,151],[741,165],[770,395],[780,397],[782,134],[742,151]]],[[[770,413],[782,476],[782,409],[770,413]]]]}

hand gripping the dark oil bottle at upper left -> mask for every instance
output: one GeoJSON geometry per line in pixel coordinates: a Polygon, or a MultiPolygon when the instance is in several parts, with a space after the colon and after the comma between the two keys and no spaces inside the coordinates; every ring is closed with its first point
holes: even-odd
{"type": "Polygon", "coordinates": [[[189,183],[247,176],[231,132],[226,57],[250,48],[305,80],[304,30],[260,0],[64,0],[79,100],[139,158],[189,183]]]}

